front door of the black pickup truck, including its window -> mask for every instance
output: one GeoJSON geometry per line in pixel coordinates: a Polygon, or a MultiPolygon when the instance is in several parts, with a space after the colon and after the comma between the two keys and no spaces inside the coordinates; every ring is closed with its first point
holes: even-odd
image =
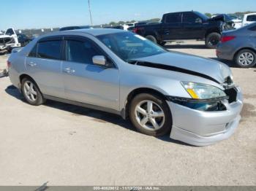
{"type": "Polygon", "coordinates": [[[183,13],[182,26],[184,39],[200,39],[205,34],[203,20],[195,12],[183,13]]]}

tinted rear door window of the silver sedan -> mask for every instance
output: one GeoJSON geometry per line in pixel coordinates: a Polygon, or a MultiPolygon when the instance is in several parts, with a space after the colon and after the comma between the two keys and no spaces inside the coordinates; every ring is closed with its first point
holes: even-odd
{"type": "Polygon", "coordinates": [[[61,59],[61,41],[45,41],[38,43],[38,58],[61,59]]]}

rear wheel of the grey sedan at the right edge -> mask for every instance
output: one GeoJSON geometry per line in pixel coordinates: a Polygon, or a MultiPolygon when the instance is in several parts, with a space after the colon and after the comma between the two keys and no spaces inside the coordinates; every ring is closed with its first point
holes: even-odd
{"type": "Polygon", "coordinates": [[[255,66],[256,64],[256,54],[252,50],[244,49],[240,50],[235,58],[234,61],[236,63],[236,66],[241,68],[251,68],[255,66]]]}

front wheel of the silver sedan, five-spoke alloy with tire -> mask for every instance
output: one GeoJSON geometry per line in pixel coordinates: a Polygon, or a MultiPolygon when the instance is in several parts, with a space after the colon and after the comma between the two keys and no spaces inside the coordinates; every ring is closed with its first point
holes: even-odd
{"type": "Polygon", "coordinates": [[[172,116],[166,101],[158,95],[141,93],[132,99],[129,117],[138,131],[148,136],[170,133],[172,116]]]}

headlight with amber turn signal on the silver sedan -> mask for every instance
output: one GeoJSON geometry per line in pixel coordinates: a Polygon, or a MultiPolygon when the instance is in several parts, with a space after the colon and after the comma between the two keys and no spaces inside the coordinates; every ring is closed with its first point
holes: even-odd
{"type": "Polygon", "coordinates": [[[181,85],[187,90],[187,93],[193,99],[211,99],[226,97],[226,93],[213,85],[206,85],[195,82],[181,82],[181,85]]]}

